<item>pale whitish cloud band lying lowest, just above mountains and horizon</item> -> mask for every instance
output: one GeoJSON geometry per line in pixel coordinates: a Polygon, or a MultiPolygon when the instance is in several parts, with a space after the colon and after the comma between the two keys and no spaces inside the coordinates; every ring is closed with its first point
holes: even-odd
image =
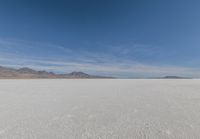
{"type": "Polygon", "coordinates": [[[84,71],[91,74],[108,75],[116,77],[160,77],[166,75],[177,75],[186,77],[200,77],[200,69],[185,68],[175,66],[152,66],[139,63],[88,63],[72,61],[53,61],[53,60],[24,60],[16,59],[13,61],[0,58],[3,66],[9,67],[31,67],[38,70],[48,70],[57,73],[84,71]],[[3,63],[4,62],[4,63],[3,63]]]}

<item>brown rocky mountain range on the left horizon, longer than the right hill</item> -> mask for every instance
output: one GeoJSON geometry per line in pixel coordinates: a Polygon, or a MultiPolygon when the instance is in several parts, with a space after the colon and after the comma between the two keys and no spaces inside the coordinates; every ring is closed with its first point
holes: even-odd
{"type": "Polygon", "coordinates": [[[47,78],[47,79],[74,79],[74,78],[112,78],[106,76],[96,76],[89,75],[84,72],[71,72],[68,74],[56,74],[53,72],[47,72],[45,70],[37,71],[31,68],[8,68],[0,66],[0,79],[37,79],[37,78],[47,78]]]}

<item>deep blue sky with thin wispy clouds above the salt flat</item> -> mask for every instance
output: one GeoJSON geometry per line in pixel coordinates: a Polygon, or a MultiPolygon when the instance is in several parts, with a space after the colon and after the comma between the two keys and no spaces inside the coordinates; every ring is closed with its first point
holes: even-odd
{"type": "Polygon", "coordinates": [[[200,77],[200,1],[1,0],[0,65],[200,77]]]}

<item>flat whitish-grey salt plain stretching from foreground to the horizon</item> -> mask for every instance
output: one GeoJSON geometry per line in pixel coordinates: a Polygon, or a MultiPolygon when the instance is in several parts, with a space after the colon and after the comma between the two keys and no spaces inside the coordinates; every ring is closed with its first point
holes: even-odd
{"type": "Polygon", "coordinates": [[[1,139],[199,139],[200,80],[0,80],[1,139]]]}

